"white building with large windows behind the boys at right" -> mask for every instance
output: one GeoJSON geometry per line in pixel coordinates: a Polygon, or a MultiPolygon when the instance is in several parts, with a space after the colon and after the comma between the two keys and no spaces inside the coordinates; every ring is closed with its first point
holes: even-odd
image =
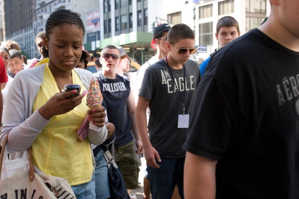
{"type": "Polygon", "coordinates": [[[186,23],[195,31],[195,46],[205,46],[206,52],[195,53],[196,61],[205,59],[219,48],[216,40],[218,20],[229,15],[239,23],[241,35],[260,26],[270,15],[269,0],[182,0],[173,6],[167,6],[171,0],[163,1],[163,15],[172,24],[186,23]]]}

